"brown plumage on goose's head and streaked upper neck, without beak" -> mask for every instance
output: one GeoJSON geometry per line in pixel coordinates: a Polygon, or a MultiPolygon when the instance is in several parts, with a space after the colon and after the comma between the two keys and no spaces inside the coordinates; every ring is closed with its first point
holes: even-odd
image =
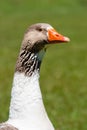
{"type": "Polygon", "coordinates": [[[24,72],[31,76],[35,70],[39,71],[41,61],[37,54],[48,44],[47,27],[49,24],[34,24],[25,32],[22,46],[16,63],[15,71],[24,72]]]}

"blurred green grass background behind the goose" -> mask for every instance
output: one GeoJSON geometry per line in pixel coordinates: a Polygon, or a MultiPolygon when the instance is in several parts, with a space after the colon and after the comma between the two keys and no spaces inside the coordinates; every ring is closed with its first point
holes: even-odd
{"type": "Polygon", "coordinates": [[[87,0],[0,0],[0,122],[8,119],[23,34],[37,22],[71,39],[49,47],[41,66],[48,115],[57,130],[87,130],[87,0]]]}

